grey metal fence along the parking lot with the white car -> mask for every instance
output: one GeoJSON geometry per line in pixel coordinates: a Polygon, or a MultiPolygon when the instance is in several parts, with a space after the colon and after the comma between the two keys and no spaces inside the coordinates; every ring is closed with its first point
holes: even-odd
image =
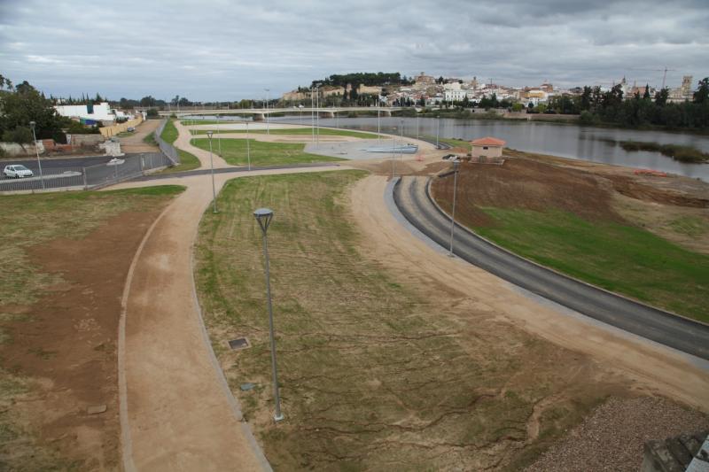
{"type": "Polygon", "coordinates": [[[86,167],[47,167],[42,175],[21,179],[0,175],[0,192],[40,190],[97,189],[144,175],[146,171],[173,166],[173,160],[160,152],[144,152],[112,159],[86,167]]]}

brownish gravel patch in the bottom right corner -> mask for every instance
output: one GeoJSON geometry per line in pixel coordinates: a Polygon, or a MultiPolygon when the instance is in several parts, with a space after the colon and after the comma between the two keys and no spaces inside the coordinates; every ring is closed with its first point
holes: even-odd
{"type": "Polygon", "coordinates": [[[610,398],[528,471],[639,470],[643,445],[709,428],[709,416],[664,398],[610,398]]]}

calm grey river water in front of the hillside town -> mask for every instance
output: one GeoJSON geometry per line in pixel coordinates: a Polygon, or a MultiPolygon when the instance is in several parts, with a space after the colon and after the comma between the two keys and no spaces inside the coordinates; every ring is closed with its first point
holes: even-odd
{"type": "MultiPolygon", "coordinates": [[[[309,113],[300,116],[272,118],[272,121],[310,124],[309,113]]],[[[381,117],[384,133],[400,134],[403,120],[404,135],[427,136],[435,139],[440,121],[440,137],[466,140],[495,136],[518,151],[538,152],[571,159],[584,159],[604,164],[654,169],[709,182],[709,164],[685,164],[659,152],[624,151],[618,141],[645,141],[662,144],[694,146],[709,152],[709,136],[660,131],[591,128],[576,125],[539,123],[533,121],[453,120],[441,118],[381,117]]],[[[320,119],[320,126],[377,131],[377,117],[320,119]]]]}

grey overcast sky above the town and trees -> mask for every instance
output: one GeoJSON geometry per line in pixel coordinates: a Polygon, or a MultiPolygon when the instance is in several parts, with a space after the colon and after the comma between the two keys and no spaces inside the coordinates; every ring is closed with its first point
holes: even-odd
{"type": "Polygon", "coordinates": [[[47,94],[271,97],[330,74],[521,86],[709,75],[709,0],[0,0],[0,74],[47,94]]]}

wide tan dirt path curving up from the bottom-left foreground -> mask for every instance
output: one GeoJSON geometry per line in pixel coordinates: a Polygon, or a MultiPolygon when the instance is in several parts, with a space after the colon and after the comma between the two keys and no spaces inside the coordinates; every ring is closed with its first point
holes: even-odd
{"type": "MultiPolygon", "coordinates": [[[[178,130],[183,138],[185,130],[178,130]]],[[[180,138],[178,146],[184,143],[180,138]]],[[[219,191],[224,182],[238,177],[341,168],[216,174],[214,181],[219,191]]],[[[194,287],[192,251],[201,216],[212,203],[211,177],[160,184],[185,185],[187,190],[144,237],[124,290],[119,332],[124,468],[269,470],[214,358],[194,287]]],[[[113,189],[152,185],[155,182],[127,182],[113,189]]]]}

